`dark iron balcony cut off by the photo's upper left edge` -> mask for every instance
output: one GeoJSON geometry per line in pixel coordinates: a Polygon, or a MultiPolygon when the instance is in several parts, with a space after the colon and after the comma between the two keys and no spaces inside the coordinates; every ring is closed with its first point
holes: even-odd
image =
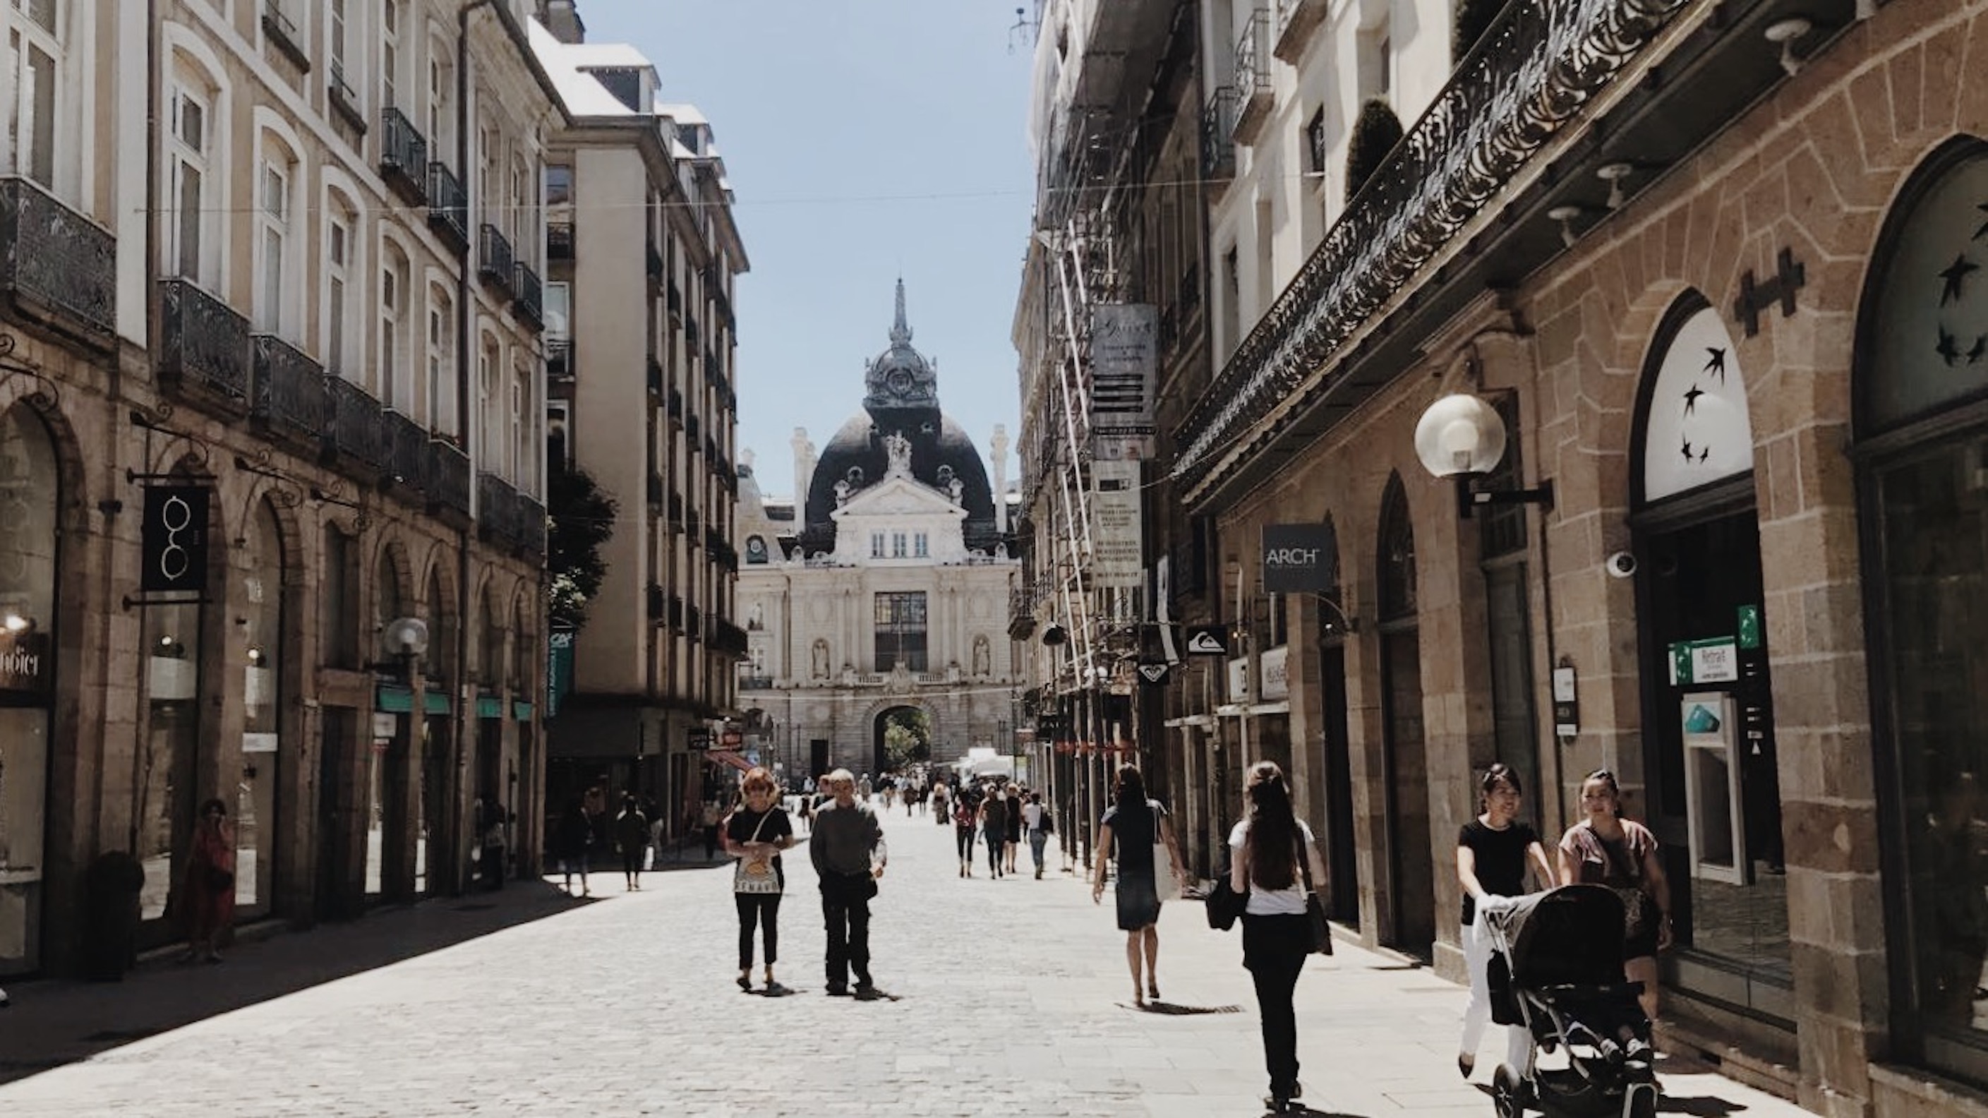
{"type": "Polygon", "coordinates": [[[117,239],[32,179],[0,175],[0,292],[64,334],[117,334],[117,239]]]}

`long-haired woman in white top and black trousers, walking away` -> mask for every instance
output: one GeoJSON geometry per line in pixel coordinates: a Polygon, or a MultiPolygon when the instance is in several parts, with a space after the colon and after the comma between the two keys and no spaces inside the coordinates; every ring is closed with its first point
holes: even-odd
{"type": "Polygon", "coordinates": [[[1304,1094],[1298,1086],[1298,1013],[1290,997],[1298,989],[1304,957],[1314,951],[1298,859],[1310,863],[1318,889],[1326,887],[1326,861],[1312,841],[1312,828],[1292,812],[1290,786],[1276,762],[1250,766],[1242,796],[1248,818],[1229,832],[1229,887],[1248,895],[1242,907],[1242,967],[1256,985],[1262,1017],[1262,1062],[1270,1072],[1264,1106],[1284,1112],[1304,1094]]]}

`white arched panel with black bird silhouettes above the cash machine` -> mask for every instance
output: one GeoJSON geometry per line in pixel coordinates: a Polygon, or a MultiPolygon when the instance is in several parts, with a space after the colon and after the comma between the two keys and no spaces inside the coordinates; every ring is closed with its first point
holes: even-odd
{"type": "Polygon", "coordinates": [[[1642,499],[1662,501],[1753,469],[1753,420],[1740,352],[1696,290],[1658,332],[1642,416],[1642,499]]]}

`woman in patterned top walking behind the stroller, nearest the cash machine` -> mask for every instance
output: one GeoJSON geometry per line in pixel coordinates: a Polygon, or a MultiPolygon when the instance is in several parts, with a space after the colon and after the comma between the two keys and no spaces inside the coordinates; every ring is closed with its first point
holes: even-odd
{"type": "Polygon", "coordinates": [[[1642,1013],[1656,1021],[1656,953],[1670,949],[1670,883],[1656,836],[1622,818],[1622,786],[1606,768],[1580,782],[1580,810],[1586,820],[1561,836],[1561,885],[1608,885],[1622,895],[1622,973],[1642,983],[1642,1013]]]}

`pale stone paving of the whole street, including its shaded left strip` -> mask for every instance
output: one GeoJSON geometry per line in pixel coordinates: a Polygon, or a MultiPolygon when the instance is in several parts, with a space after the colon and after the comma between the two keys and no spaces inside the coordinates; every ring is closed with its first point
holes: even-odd
{"type": "MultiPolygon", "coordinates": [[[[1129,1007],[1109,897],[1076,875],[956,877],[952,828],[887,820],[877,983],[823,995],[805,849],[787,857],[779,977],[736,977],[730,867],[537,883],[241,945],[219,967],[151,963],[121,985],[16,985],[0,1011],[0,1114],[445,1116],[1260,1114],[1254,999],[1235,933],[1201,905],[1161,919],[1165,1013],[1129,1007]]],[[[702,853],[702,851],[698,851],[702,853]]],[[[1052,859],[1056,853],[1052,851],[1052,859]]],[[[1024,867],[1028,851],[1022,851],[1024,867]]],[[[1340,945],[1298,985],[1320,1114],[1487,1118],[1495,1062],[1457,1078],[1463,991],[1340,945]]],[[[1664,1110],[1803,1114],[1680,1062],[1664,1110]]]]}

